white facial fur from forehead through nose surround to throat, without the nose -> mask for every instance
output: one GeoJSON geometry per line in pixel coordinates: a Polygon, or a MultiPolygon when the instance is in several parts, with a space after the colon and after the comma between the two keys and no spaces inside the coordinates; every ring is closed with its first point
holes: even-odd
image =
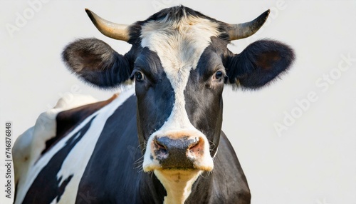
{"type": "MultiPolygon", "coordinates": [[[[204,140],[204,156],[199,161],[199,165],[211,170],[214,166],[213,160],[209,153],[209,142],[201,131],[197,130],[190,123],[187,111],[185,110],[184,90],[187,86],[190,71],[197,68],[197,64],[201,54],[211,43],[211,36],[219,36],[218,24],[207,19],[201,19],[194,16],[185,15],[179,21],[172,21],[166,18],[161,21],[149,21],[142,26],[142,47],[148,47],[151,51],[155,51],[167,74],[167,78],[172,84],[174,90],[174,106],[164,125],[158,131],[152,133],[147,141],[147,147],[144,156],[143,169],[145,171],[155,170],[157,178],[166,188],[167,192],[174,192],[177,183],[168,182],[167,174],[158,173],[160,165],[157,160],[151,160],[152,153],[150,144],[155,136],[167,136],[167,133],[187,131],[194,132],[194,136],[201,137],[204,140]],[[174,187],[175,186],[175,187],[174,187]]],[[[189,171],[182,171],[187,173],[189,171]]],[[[191,172],[192,173],[192,172],[191,172]]],[[[182,195],[184,200],[190,194],[190,188],[197,179],[199,174],[192,173],[189,175],[192,179],[186,182],[184,192],[187,195],[182,195]],[[194,179],[193,179],[194,178],[194,179]]],[[[182,188],[182,187],[180,187],[182,188]]],[[[168,196],[171,200],[172,196],[168,196]]],[[[165,200],[165,203],[173,202],[165,200]]],[[[184,203],[184,200],[180,203],[184,203]]]]}

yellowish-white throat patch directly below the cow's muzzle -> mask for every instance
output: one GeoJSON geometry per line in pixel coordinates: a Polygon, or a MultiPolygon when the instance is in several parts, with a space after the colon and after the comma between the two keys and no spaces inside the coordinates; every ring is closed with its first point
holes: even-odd
{"type": "Polygon", "coordinates": [[[155,170],[155,175],[167,192],[164,204],[184,203],[200,174],[201,170],[155,170]]]}

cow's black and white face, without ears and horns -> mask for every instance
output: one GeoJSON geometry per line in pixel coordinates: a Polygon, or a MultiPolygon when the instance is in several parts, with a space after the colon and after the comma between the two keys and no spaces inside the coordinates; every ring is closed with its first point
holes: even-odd
{"type": "Polygon", "coordinates": [[[213,168],[226,76],[222,51],[211,49],[218,27],[194,16],[142,25],[133,75],[145,171],[213,168]]]}

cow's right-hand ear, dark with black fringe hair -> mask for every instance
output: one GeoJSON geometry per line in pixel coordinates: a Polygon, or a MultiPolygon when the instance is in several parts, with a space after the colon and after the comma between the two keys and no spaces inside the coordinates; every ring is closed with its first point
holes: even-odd
{"type": "Polygon", "coordinates": [[[286,71],[294,58],[293,50],[286,44],[256,41],[227,60],[229,83],[243,88],[260,88],[286,71]]]}

